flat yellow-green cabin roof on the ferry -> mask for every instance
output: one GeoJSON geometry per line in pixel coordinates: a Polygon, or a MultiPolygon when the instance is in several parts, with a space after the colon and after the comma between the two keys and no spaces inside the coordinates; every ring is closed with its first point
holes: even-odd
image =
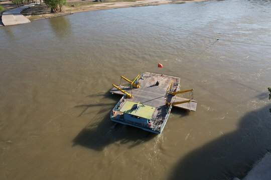
{"type": "Polygon", "coordinates": [[[139,106],[137,106],[137,104],[138,103],[136,102],[126,101],[119,111],[136,115],[139,117],[151,119],[155,111],[155,107],[144,105],[141,103],[139,104],[139,106]]]}

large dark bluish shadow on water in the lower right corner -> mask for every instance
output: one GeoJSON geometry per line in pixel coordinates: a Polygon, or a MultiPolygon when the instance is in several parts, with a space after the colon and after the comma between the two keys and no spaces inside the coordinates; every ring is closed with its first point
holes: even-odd
{"type": "Polygon", "coordinates": [[[240,119],[238,129],[195,149],[180,159],[169,179],[242,178],[271,148],[269,105],[240,119]]]}

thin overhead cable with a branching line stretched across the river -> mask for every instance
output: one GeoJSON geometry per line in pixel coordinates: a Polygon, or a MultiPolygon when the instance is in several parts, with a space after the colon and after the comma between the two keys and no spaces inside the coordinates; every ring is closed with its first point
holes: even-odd
{"type": "MultiPolygon", "coordinates": [[[[132,17],[128,17],[128,16],[125,16],[125,15],[121,15],[121,14],[117,14],[117,13],[114,13],[114,12],[110,12],[110,11],[107,11],[109,13],[112,13],[112,14],[115,14],[115,15],[118,15],[118,16],[121,16],[121,17],[125,17],[125,18],[129,18],[129,19],[132,19],[132,20],[137,20],[137,21],[140,21],[140,22],[144,22],[144,23],[148,23],[148,24],[151,24],[151,25],[155,25],[155,26],[158,26],[158,27],[164,27],[164,28],[168,28],[168,29],[172,29],[172,30],[178,30],[178,31],[181,31],[181,32],[185,32],[185,33],[189,33],[189,34],[193,34],[193,35],[198,35],[198,36],[202,36],[202,37],[206,37],[206,38],[210,38],[210,39],[215,39],[216,41],[217,40],[221,40],[221,41],[227,41],[227,42],[234,42],[234,43],[243,43],[243,44],[251,44],[251,45],[261,45],[261,46],[271,46],[269,44],[258,44],[258,43],[249,43],[249,42],[241,42],[241,41],[234,41],[234,40],[226,40],[226,39],[218,39],[218,38],[215,38],[215,37],[210,37],[210,36],[206,36],[206,35],[202,35],[202,34],[198,34],[198,33],[194,33],[194,32],[189,32],[189,31],[186,31],[186,30],[182,30],[182,29],[176,29],[176,28],[172,28],[172,27],[168,27],[168,26],[164,26],[164,25],[159,25],[159,24],[155,24],[155,23],[151,23],[151,22],[147,22],[147,21],[144,21],[144,20],[140,20],[140,19],[135,19],[135,18],[132,18],[132,17]]],[[[215,41],[215,42],[216,42],[215,41]]],[[[214,43],[215,43],[214,42],[214,43]]],[[[213,44],[214,44],[213,43],[213,44]]],[[[212,44],[211,44],[212,45],[212,44]]],[[[210,46],[209,46],[210,47],[210,46]]],[[[207,47],[207,49],[209,48],[207,47]]],[[[207,50],[205,49],[205,50],[207,50]]],[[[204,51],[205,51],[204,50],[204,51]]],[[[202,52],[204,52],[202,51],[202,52]]],[[[202,53],[201,52],[201,53],[202,53]]],[[[200,54],[201,54],[200,53],[200,54]]]]}

